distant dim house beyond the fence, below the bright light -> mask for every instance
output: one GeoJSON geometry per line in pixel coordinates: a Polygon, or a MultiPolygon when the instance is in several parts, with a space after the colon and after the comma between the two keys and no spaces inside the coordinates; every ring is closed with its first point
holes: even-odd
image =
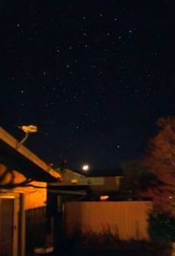
{"type": "MultiPolygon", "coordinates": [[[[118,193],[123,173],[120,168],[109,170],[93,170],[82,174],[68,168],[57,169],[61,182],[52,182],[48,188],[58,195],[84,196],[86,200],[101,200],[101,196],[118,193]]],[[[78,198],[78,197],[77,197],[78,198]]]]}

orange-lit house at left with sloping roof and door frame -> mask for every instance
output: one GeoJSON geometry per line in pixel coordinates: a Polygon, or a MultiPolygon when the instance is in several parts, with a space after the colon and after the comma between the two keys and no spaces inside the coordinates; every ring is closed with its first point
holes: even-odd
{"type": "Polygon", "coordinates": [[[0,127],[0,252],[24,256],[35,246],[49,245],[45,223],[47,182],[60,174],[0,127]],[[46,240],[45,240],[46,239],[46,240]]]}

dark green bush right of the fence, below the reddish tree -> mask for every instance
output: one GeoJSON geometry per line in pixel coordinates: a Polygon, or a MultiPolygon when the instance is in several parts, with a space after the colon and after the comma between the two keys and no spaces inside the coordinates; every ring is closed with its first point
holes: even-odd
{"type": "Polygon", "coordinates": [[[175,240],[175,218],[169,213],[152,210],[148,221],[148,231],[153,241],[168,243],[175,240]]]}

